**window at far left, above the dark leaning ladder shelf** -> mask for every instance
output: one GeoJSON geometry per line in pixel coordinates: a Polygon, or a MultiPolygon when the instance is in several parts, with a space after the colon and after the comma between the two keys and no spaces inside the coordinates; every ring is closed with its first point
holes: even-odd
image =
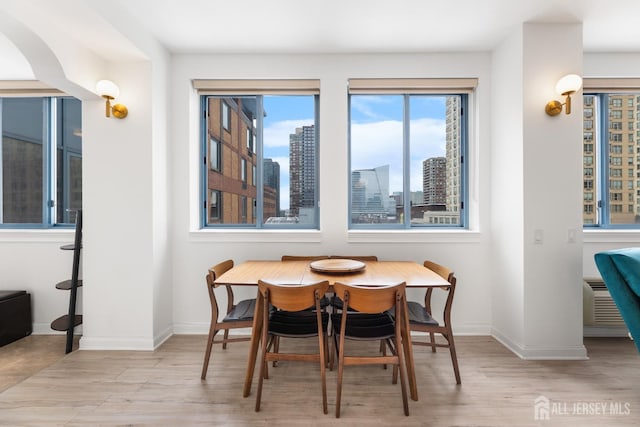
{"type": "Polygon", "coordinates": [[[82,208],[81,102],[0,98],[0,112],[0,225],[72,224],[82,208]]]}

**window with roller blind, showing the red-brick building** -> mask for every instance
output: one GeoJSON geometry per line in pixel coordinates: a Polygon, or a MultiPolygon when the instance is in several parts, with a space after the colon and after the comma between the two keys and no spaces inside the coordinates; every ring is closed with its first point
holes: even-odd
{"type": "Polygon", "coordinates": [[[319,81],[196,80],[194,87],[204,164],[223,159],[218,170],[202,170],[203,227],[317,229],[319,81]]]}

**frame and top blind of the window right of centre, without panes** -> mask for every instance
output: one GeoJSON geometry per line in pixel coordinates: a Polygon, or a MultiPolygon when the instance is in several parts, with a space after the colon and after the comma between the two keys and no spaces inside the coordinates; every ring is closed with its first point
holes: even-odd
{"type": "MultiPolygon", "coordinates": [[[[470,98],[477,87],[475,78],[442,78],[442,79],[350,79],[348,85],[348,228],[352,230],[469,230],[469,126],[472,112],[470,110],[470,98]],[[352,95],[402,95],[403,111],[403,217],[402,223],[384,224],[362,224],[352,222],[352,162],[351,162],[351,97],[352,95]],[[433,96],[459,96],[460,110],[460,207],[459,222],[450,224],[425,223],[414,224],[411,221],[411,191],[410,191],[410,111],[407,108],[410,104],[411,96],[433,95],[433,96]]],[[[449,218],[447,218],[449,220],[449,218]]]]}

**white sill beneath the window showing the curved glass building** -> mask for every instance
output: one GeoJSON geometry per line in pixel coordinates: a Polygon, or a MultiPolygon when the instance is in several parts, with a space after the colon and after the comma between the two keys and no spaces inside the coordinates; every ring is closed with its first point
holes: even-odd
{"type": "Polygon", "coordinates": [[[470,230],[349,230],[349,243],[480,243],[480,232],[470,230]]]}

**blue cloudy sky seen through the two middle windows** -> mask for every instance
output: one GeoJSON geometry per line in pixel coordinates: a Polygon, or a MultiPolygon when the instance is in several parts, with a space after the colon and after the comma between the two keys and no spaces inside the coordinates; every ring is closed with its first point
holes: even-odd
{"type": "MultiPolygon", "coordinates": [[[[264,157],[280,164],[281,206],[289,206],[289,134],[313,124],[312,96],[265,96],[264,157]]],[[[411,190],[422,190],[422,161],[445,155],[445,96],[412,96],[411,190]]],[[[390,165],[390,192],[402,190],[400,95],[351,97],[352,168],[390,165]]],[[[320,118],[322,120],[322,118],[320,118]]],[[[322,144],[322,141],[320,141],[322,144]]]]}

